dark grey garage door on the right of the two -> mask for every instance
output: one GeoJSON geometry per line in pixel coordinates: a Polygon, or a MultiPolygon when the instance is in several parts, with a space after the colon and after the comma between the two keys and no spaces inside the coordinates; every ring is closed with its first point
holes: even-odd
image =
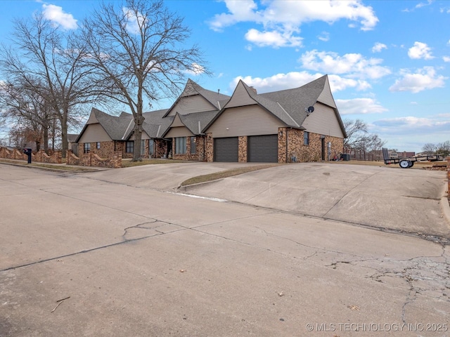
{"type": "Polygon", "coordinates": [[[259,163],[278,162],[278,136],[248,137],[248,161],[259,163]]]}

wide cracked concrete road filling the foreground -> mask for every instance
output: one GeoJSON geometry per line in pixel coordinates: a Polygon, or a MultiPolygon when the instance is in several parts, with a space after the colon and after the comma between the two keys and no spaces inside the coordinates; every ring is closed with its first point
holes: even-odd
{"type": "Polygon", "coordinates": [[[96,174],[0,165],[0,336],[449,336],[449,246],[96,174]]]}

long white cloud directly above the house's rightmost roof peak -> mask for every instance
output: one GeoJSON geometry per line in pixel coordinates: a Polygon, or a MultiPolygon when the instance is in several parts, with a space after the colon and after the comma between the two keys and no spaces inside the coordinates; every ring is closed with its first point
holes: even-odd
{"type": "Polygon", "coordinates": [[[348,53],[338,55],[338,53],[325,51],[307,51],[299,61],[302,67],[329,74],[348,74],[349,77],[360,77],[369,79],[379,79],[390,74],[387,67],[380,65],[383,62],[380,58],[364,58],[361,54],[348,53]]]}

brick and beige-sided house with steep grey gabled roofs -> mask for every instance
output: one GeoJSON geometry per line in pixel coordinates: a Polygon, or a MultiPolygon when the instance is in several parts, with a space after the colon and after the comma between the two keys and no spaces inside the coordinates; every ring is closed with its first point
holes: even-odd
{"type": "MultiPolygon", "coordinates": [[[[143,114],[142,156],[194,161],[330,160],[342,152],[342,119],[325,75],[298,88],[257,93],[239,81],[233,95],[188,79],[167,110],[143,114]]],[[[132,157],[134,121],[95,108],[77,138],[79,153],[132,157]]]]}

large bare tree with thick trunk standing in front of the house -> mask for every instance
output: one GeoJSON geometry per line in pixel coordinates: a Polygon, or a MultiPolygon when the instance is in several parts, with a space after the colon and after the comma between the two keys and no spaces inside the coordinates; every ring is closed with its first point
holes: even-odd
{"type": "Polygon", "coordinates": [[[162,1],[101,4],[84,21],[79,39],[88,49],[84,61],[98,70],[102,93],[127,105],[133,114],[133,161],[141,160],[143,100],[175,96],[186,71],[208,73],[200,48],[184,46],[189,36],[183,19],[162,1]]]}

